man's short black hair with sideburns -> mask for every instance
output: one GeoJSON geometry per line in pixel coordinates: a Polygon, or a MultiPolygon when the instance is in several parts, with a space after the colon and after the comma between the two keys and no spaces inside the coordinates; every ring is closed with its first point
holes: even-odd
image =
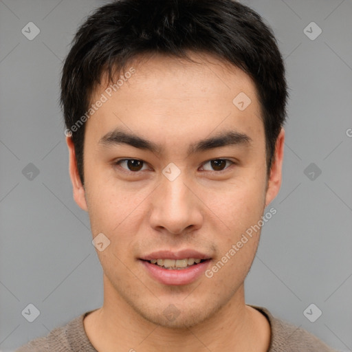
{"type": "Polygon", "coordinates": [[[220,58],[252,78],[261,104],[270,175],[288,93],[283,58],[260,15],[234,0],[117,0],[96,9],[80,25],[63,65],[61,107],[83,184],[87,114],[81,117],[89,110],[102,74],[108,72],[112,81],[113,72],[122,72],[141,54],[188,58],[188,52],[220,58]]]}

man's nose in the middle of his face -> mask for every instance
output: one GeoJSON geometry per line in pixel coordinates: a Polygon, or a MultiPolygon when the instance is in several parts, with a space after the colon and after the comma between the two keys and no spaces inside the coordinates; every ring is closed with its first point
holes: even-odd
{"type": "Polygon", "coordinates": [[[198,230],[203,223],[201,200],[195,187],[182,175],[173,181],[162,177],[162,184],[153,192],[149,221],[153,229],[184,234],[198,230]]]}

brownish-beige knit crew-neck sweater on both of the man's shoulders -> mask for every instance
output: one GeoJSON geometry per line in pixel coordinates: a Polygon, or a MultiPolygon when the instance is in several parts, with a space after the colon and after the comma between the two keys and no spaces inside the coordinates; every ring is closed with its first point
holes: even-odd
{"type": "MultiPolygon", "coordinates": [[[[311,333],[274,318],[267,309],[251,307],[261,311],[270,322],[272,337],[267,352],[336,352],[311,333]]],[[[83,326],[83,319],[89,313],[91,311],[52,330],[45,338],[32,340],[16,352],[98,352],[91,345],[83,326]]]]}

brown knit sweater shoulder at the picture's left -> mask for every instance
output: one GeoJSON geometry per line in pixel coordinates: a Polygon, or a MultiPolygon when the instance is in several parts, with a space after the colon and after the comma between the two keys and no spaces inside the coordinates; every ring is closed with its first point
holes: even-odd
{"type": "MultiPolygon", "coordinates": [[[[83,325],[83,319],[89,313],[90,311],[74,318],[62,327],[56,327],[47,336],[28,342],[16,352],[72,352],[78,351],[77,346],[87,347],[84,351],[94,352],[83,325]]],[[[83,350],[79,349],[79,351],[83,350]]]]}

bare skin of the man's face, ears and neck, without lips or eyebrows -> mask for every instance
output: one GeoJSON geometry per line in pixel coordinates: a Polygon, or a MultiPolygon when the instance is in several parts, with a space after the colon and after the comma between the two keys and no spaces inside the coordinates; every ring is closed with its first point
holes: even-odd
{"type": "MultiPolygon", "coordinates": [[[[93,236],[102,232],[111,241],[97,250],[104,303],[84,320],[87,336],[100,352],[269,348],[270,325],[244,298],[259,232],[212,278],[202,275],[188,285],[159,283],[139,261],[155,250],[191,248],[208,254],[212,267],[258,223],[281,186],[285,131],[276,141],[267,179],[264,126],[250,77],[207,54],[190,56],[197,63],[161,55],[131,62],[135,74],[86,122],[85,186],[67,137],[74,199],[89,212],[93,236]],[[240,92],[252,100],[244,111],[232,103],[240,92]],[[163,151],[99,143],[116,128],[159,144],[163,151]],[[250,143],[188,155],[190,144],[221,131],[244,133],[250,143]],[[124,158],[144,164],[131,171],[126,162],[116,164],[124,158]],[[236,164],[214,168],[213,159],[236,164]],[[174,181],[162,174],[170,162],[181,171],[174,181]],[[170,304],[179,312],[173,321],[163,314],[170,304]]],[[[105,76],[91,102],[109,84],[105,76]]]]}

